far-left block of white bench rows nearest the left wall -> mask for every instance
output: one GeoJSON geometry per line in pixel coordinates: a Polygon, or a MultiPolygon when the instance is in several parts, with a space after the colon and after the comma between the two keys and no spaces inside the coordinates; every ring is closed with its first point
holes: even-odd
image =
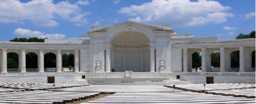
{"type": "Polygon", "coordinates": [[[70,88],[70,87],[79,87],[86,86],[81,84],[42,84],[42,83],[2,83],[0,88],[15,88],[15,89],[25,89],[25,90],[47,90],[53,88],[70,88]]]}

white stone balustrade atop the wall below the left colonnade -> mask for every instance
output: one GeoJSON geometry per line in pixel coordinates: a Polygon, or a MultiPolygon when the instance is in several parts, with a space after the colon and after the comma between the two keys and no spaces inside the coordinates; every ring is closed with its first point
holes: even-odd
{"type": "Polygon", "coordinates": [[[46,73],[39,73],[39,72],[30,72],[30,73],[0,73],[0,76],[69,76],[69,75],[78,75],[76,72],[46,72],[46,73]]]}

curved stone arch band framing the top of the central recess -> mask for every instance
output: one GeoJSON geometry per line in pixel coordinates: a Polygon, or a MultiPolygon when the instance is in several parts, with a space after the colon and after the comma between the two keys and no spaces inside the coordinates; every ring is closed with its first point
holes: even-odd
{"type": "Polygon", "coordinates": [[[113,31],[112,33],[110,33],[108,35],[108,37],[105,39],[105,43],[109,44],[113,36],[115,36],[119,32],[125,32],[125,31],[137,31],[140,33],[144,33],[146,36],[148,36],[150,43],[156,42],[155,39],[153,38],[153,36],[150,33],[148,33],[147,31],[145,31],[144,29],[140,29],[137,27],[131,27],[131,28],[125,27],[125,28],[117,29],[117,30],[113,31]]]}

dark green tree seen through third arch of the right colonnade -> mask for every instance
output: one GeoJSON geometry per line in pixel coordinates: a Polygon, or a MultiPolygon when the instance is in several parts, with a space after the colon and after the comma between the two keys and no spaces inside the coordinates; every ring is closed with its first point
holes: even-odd
{"type": "Polygon", "coordinates": [[[231,53],[231,68],[240,67],[240,51],[234,51],[231,53]]]}

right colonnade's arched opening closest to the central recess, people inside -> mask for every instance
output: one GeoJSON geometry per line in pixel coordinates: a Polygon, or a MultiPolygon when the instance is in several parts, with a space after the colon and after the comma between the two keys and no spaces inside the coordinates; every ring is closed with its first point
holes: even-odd
{"type": "Polygon", "coordinates": [[[194,52],[192,54],[192,71],[202,71],[202,52],[194,52]]]}

